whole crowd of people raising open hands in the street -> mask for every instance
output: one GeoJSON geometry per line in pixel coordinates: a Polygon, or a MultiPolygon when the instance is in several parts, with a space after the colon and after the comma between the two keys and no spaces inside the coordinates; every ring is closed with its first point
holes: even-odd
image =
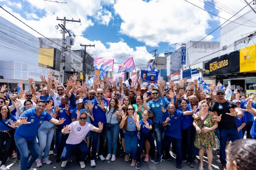
{"type": "Polygon", "coordinates": [[[85,168],[86,160],[96,167],[96,157],[115,161],[118,146],[136,169],[142,157],[158,164],[172,155],[177,170],[183,162],[194,168],[196,156],[199,170],[204,170],[204,156],[212,170],[213,153],[219,154],[221,170],[255,168],[255,94],[246,96],[235,89],[226,100],[219,84],[211,84],[207,92],[197,80],[188,83],[186,78],[176,84],[159,78],[156,86],[138,79],[130,87],[124,86],[122,78],[110,82],[109,77],[97,76],[89,86],[77,81],[76,73],[65,87],[54,81],[52,72],[47,79],[40,78],[45,84],[40,89],[32,78],[27,91],[22,82],[18,92],[7,94],[6,85],[1,87],[1,170],[7,170],[10,152],[21,170],[30,169],[35,161],[37,167],[51,164],[50,153],[66,167],[74,150],[80,168],[85,168]],[[247,139],[243,139],[245,132],[247,139]],[[230,140],[232,145],[227,146],[230,140]]]}

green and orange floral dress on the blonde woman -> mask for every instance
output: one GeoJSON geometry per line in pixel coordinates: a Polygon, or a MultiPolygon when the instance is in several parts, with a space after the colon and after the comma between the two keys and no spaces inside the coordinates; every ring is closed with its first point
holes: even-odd
{"type": "MultiPolygon", "coordinates": [[[[213,127],[217,121],[213,120],[214,113],[208,111],[208,115],[205,117],[204,120],[201,118],[196,120],[196,125],[202,129],[203,127],[213,127]]],[[[196,134],[196,140],[194,142],[195,147],[198,149],[212,149],[216,148],[216,141],[215,141],[215,135],[214,130],[208,131],[208,132],[202,132],[196,134]]]]}

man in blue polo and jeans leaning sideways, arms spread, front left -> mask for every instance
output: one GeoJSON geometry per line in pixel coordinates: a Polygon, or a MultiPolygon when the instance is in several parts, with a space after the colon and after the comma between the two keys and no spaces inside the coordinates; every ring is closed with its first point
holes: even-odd
{"type": "Polygon", "coordinates": [[[34,109],[28,109],[22,113],[20,118],[16,122],[16,126],[19,126],[14,134],[15,143],[20,150],[20,169],[28,170],[31,165],[39,156],[39,147],[36,140],[36,133],[43,121],[48,121],[53,124],[62,124],[65,120],[55,119],[50,114],[45,112],[46,102],[40,100],[37,103],[37,107],[34,109]],[[31,158],[28,161],[28,150],[31,152],[31,158]]]}

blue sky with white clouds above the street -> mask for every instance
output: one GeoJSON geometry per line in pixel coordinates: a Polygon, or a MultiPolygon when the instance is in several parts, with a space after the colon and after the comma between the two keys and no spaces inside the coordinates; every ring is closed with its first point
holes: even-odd
{"type": "MultiPolygon", "coordinates": [[[[153,58],[154,53],[150,52],[154,49],[164,56],[166,51],[178,49],[179,44],[199,41],[245,5],[243,0],[0,0],[1,7],[49,38],[62,38],[60,29],[56,29],[61,24],[57,17],[80,19],[81,23],[66,24],[76,35],[71,49],[81,49],[80,44],[95,44],[87,47],[87,52],[94,58],[114,58],[114,69],[130,57],[139,69],[153,58]]],[[[248,10],[246,7],[236,16],[248,10]]],[[[3,9],[0,15],[42,37],[3,9]]],[[[219,38],[217,29],[202,41],[219,38]]]]}

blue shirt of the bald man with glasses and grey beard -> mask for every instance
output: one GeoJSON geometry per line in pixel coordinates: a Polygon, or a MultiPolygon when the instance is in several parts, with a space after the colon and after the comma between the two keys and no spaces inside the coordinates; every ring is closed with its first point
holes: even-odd
{"type": "MultiPolygon", "coordinates": [[[[104,98],[102,98],[102,100],[104,101],[105,103],[105,106],[107,107],[108,106],[108,101],[104,98]]],[[[94,104],[93,108],[92,108],[92,114],[93,114],[93,117],[94,117],[94,121],[92,121],[92,124],[98,124],[99,122],[105,124],[107,123],[107,118],[106,118],[106,111],[103,111],[99,106],[97,102],[97,99],[93,99],[91,101],[92,104],[94,104]]]]}

